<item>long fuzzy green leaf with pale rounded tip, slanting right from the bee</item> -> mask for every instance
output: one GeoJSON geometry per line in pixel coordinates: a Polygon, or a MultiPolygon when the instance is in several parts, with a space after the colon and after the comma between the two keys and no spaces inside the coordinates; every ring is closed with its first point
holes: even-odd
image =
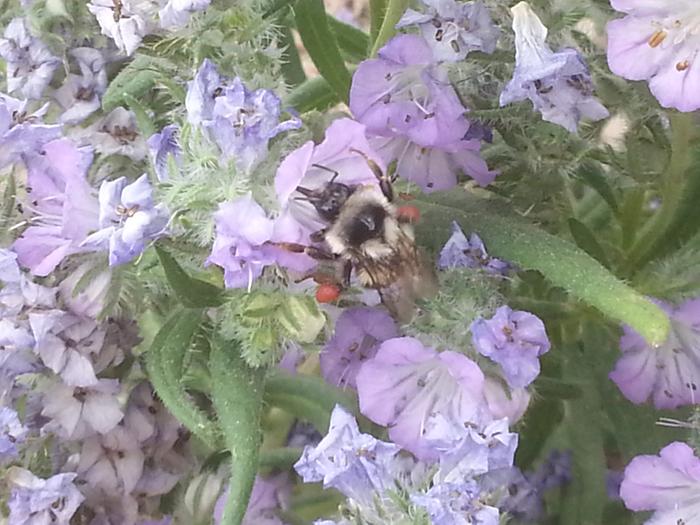
{"type": "Polygon", "coordinates": [[[415,203],[423,216],[417,228],[419,240],[434,251],[442,247],[450,222],[456,220],[465,232],[477,232],[492,255],[519,268],[539,271],[572,296],[630,325],[653,345],[666,340],[670,329],[666,314],[569,241],[522,217],[507,216],[508,211],[499,210],[493,201],[458,189],[421,196],[415,203]]]}

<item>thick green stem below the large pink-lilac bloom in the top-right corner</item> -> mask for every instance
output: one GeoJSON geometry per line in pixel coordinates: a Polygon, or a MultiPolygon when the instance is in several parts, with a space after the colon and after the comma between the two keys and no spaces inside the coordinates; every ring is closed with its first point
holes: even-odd
{"type": "Polygon", "coordinates": [[[676,223],[688,180],[685,173],[690,163],[693,127],[690,114],[676,113],[671,116],[671,160],[664,174],[661,209],[647,221],[632,245],[627,258],[627,270],[630,272],[641,268],[652,258],[659,243],[665,240],[676,223]]]}

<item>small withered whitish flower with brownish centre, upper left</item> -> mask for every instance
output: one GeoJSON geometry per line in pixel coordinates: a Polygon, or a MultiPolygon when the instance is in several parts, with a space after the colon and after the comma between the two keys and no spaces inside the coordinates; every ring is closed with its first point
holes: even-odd
{"type": "Polygon", "coordinates": [[[122,107],[113,109],[95,124],[76,132],[75,135],[102,155],[124,155],[138,162],[148,154],[146,141],[136,125],[136,116],[122,107]]]}

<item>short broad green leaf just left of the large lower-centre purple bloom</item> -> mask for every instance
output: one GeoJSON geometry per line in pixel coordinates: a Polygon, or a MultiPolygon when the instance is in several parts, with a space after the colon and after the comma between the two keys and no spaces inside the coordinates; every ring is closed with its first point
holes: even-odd
{"type": "Polygon", "coordinates": [[[320,377],[285,372],[271,374],[265,386],[265,400],[273,406],[310,421],[326,432],[335,405],[359,415],[352,395],[328,385],[320,377]]]}

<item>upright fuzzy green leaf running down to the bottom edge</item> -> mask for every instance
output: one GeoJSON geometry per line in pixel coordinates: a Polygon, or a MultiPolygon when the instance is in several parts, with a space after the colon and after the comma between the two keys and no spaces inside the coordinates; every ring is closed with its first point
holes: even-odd
{"type": "Polygon", "coordinates": [[[217,341],[209,370],[214,408],[231,452],[231,480],[221,525],[240,525],[258,471],[265,369],[250,368],[238,347],[217,341]]]}

